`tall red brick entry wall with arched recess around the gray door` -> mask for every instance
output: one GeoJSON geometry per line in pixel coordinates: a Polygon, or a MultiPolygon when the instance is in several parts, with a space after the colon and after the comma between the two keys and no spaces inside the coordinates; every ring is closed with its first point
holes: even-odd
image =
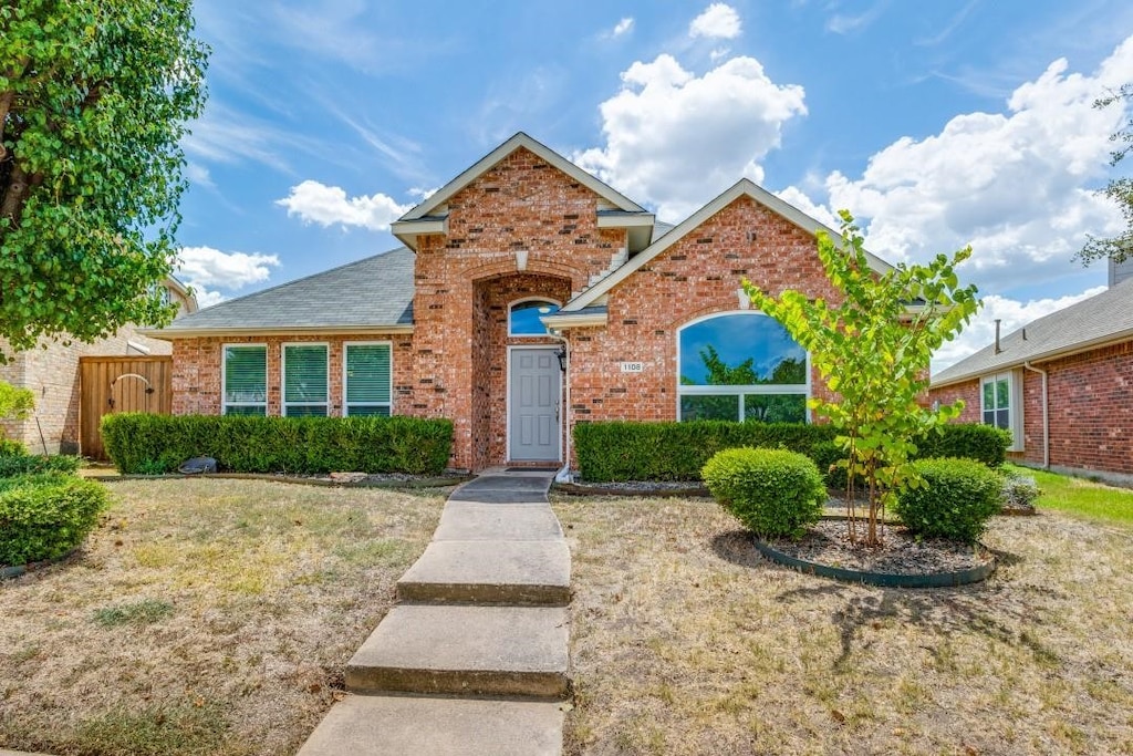
{"type": "Polygon", "coordinates": [[[520,294],[565,300],[625,246],[597,227],[598,199],[521,148],[449,201],[448,236],[419,239],[412,409],[454,422],[453,467],[505,461],[506,313],[494,308],[520,294]]]}

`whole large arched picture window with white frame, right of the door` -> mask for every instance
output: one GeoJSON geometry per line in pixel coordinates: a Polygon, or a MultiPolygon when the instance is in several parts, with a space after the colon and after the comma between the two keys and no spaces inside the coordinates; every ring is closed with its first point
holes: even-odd
{"type": "Polygon", "coordinates": [[[770,317],[713,315],[678,339],[682,421],[807,422],[807,351],[770,317]]]}

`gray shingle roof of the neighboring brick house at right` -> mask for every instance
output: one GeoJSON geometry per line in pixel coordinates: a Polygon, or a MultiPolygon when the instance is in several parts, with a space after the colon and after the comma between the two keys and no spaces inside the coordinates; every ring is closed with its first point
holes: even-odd
{"type": "Polygon", "coordinates": [[[1133,279],[1002,337],[998,355],[990,343],[932,376],[932,385],[957,383],[1125,338],[1133,338],[1133,279]]]}

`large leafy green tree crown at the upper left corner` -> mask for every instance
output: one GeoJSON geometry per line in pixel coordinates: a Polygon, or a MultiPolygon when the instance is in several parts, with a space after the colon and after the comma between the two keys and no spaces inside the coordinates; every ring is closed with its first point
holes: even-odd
{"type": "Polygon", "coordinates": [[[168,322],[204,104],[191,0],[0,2],[0,337],[92,341],[168,322]]]}

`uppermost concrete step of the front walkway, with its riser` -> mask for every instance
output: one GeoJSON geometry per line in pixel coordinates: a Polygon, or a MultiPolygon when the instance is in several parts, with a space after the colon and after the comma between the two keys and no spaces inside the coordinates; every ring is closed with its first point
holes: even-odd
{"type": "Polygon", "coordinates": [[[401,601],[570,603],[565,541],[434,541],[398,580],[401,601]]]}

